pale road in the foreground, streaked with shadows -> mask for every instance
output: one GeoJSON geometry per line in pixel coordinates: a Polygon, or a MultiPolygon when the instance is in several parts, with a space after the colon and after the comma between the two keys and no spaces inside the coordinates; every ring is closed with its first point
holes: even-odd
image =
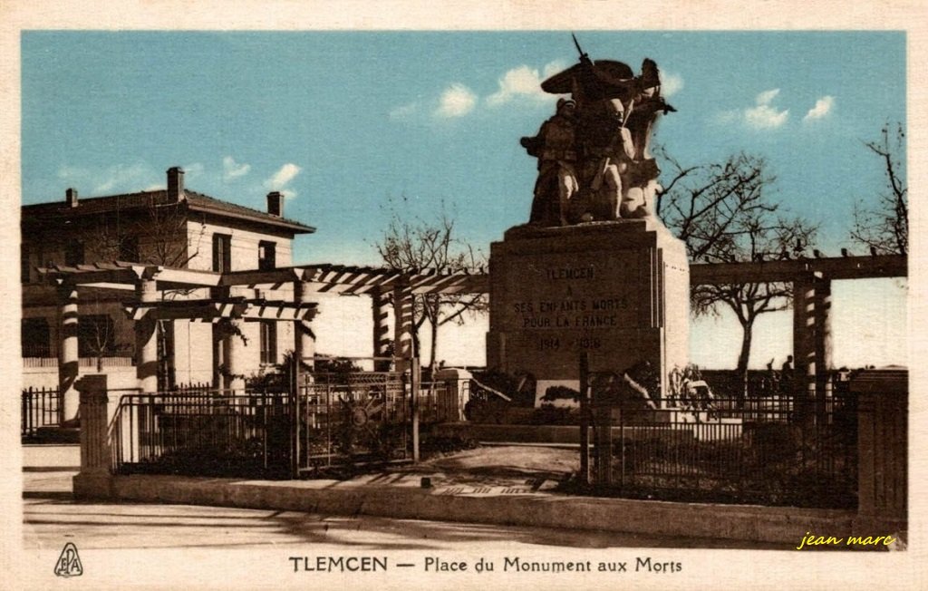
{"type": "MultiPolygon", "coordinates": [[[[449,550],[531,546],[574,548],[733,547],[702,538],[578,532],[478,523],[342,517],[229,507],[78,503],[71,498],[74,472],[23,474],[23,536],[26,548],[280,548],[307,544],[359,548],[449,550]]],[[[735,543],[735,547],[774,548],[735,543]]],[[[315,547],[315,546],[314,546],[315,547]]]]}

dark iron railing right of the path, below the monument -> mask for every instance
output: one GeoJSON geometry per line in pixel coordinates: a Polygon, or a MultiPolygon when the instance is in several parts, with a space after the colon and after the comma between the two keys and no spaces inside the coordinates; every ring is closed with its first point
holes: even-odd
{"type": "Polygon", "coordinates": [[[789,396],[662,402],[592,407],[600,487],[677,501],[856,507],[849,399],[809,415],[797,415],[789,396]]]}

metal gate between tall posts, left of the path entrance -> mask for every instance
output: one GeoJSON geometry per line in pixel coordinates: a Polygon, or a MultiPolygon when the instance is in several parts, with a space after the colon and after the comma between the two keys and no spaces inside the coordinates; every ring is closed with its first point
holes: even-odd
{"type": "Polygon", "coordinates": [[[418,454],[419,364],[406,372],[301,372],[296,378],[294,476],[418,454]]]}

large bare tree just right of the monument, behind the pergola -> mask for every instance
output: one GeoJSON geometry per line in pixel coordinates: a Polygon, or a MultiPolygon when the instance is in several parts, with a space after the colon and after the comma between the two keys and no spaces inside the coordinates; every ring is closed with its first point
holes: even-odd
{"type": "MultiPolygon", "coordinates": [[[[682,167],[664,154],[673,170],[655,205],[664,224],[687,246],[690,261],[741,263],[802,256],[818,227],[780,214],[767,189],[775,177],[763,158],[730,156],[722,163],[682,167]]],[[[699,285],[690,290],[694,315],[728,307],[741,324],[737,371],[744,388],[759,315],[787,309],[791,283],[699,285]]]]}

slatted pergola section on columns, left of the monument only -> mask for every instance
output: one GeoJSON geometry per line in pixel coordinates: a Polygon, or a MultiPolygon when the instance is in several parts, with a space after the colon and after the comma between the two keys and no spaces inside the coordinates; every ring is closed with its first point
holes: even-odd
{"type": "MultiPolygon", "coordinates": [[[[240,341],[232,337],[245,320],[271,320],[295,324],[293,350],[298,358],[315,353],[311,321],[316,315],[315,293],[367,294],[372,299],[375,356],[387,356],[391,338],[388,314],[393,307],[393,351],[398,360],[411,356],[412,296],[423,293],[485,293],[487,277],[465,273],[423,270],[399,273],[390,269],[307,264],[266,271],[248,270],[217,273],[140,263],[93,263],[52,265],[39,269],[45,281],[58,288],[61,330],[58,343],[58,381],[65,404],[65,417],[77,411],[74,381],[78,376],[78,290],[112,289],[128,292],[125,314],[135,325],[136,379],[141,392],[158,389],[158,320],[187,319],[223,324],[224,364],[229,390],[243,387],[240,378],[240,341]],[[257,289],[278,297],[247,298],[234,289],[257,289]],[[292,289],[284,299],[280,289],[292,289]],[[201,297],[209,290],[208,297],[201,297]],[[159,293],[173,291],[183,297],[164,300],[159,293]]],[[[398,361],[402,365],[402,361],[398,361]]],[[[402,367],[400,367],[402,369],[402,367]]]]}

